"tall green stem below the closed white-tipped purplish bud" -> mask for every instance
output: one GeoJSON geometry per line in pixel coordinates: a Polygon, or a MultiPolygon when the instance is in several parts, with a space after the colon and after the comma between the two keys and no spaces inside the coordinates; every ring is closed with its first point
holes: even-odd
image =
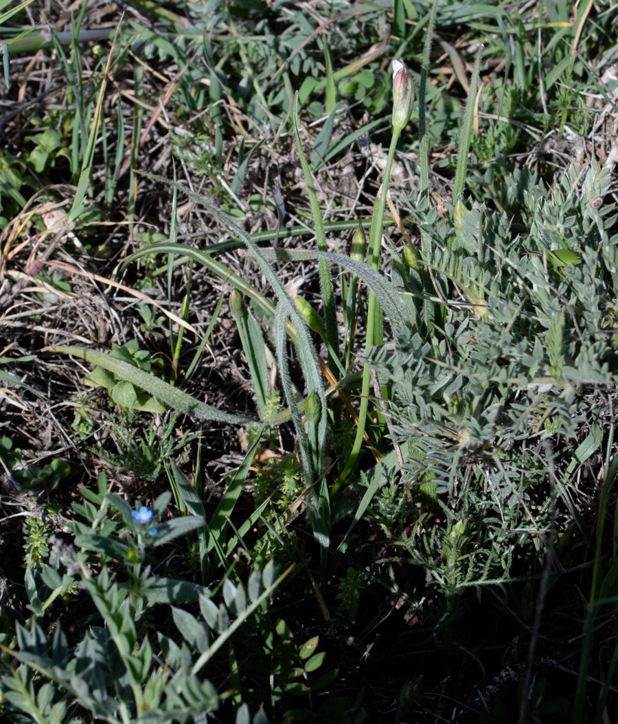
{"type": "MultiPolygon", "coordinates": [[[[380,249],[382,247],[382,229],[384,224],[384,212],[386,209],[386,195],[388,193],[388,180],[391,177],[391,166],[393,165],[393,158],[395,156],[395,149],[401,129],[393,127],[393,135],[391,136],[391,148],[388,149],[388,158],[386,159],[386,166],[384,169],[384,180],[382,182],[382,188],[378,191],[375,205],[373,207],[373,215],[371,221],[371,233],[369,237],[369,266],[372,269],[380,269],[380,249]]],[[[384,328],[382,319],[382,308],[378,302],[375,294],[369,290],[369,302],[367,306],[367,340],[365,342],[365,357],[369,355],[369,351],[375,345],[381,345],[384,341],[384,328]]],[[[333,484],[330,490],[331,497],[338,491],[339,488],[348,478],[352,469],[356,465],[356,460],[359,457],[361,446],[363,442],[363,435],[365,426],[367,424],[367,408],[369,407],[369,387],[371,384],[371,370],[369,363],[365,363],[363,368],[363,379],[361,387],[361,406],[359,410],[359,424],[356,427],[356,437],[354,438],[354,445],[346,467],[341,471],[341,475],[333,484]]]]}

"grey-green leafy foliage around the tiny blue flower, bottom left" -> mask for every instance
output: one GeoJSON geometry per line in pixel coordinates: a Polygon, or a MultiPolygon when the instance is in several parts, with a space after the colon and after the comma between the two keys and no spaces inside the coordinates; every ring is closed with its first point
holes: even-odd
{"type": "MultiPolygon", "coordinates": [[[[208,712],[219,707],[220,696],[201,668],[234,631],[259,629],[258,611],[277,585],[276,566],[271,562],[253,571],[246,588],[226,579],[217,605],[205,586],[157,576],[144,564],[145,547],[185,534],[199,519],[187,515],[156,523],[154,529],[169,494],[154,502],[145,525],[135,522],[125,500],[105,493],[104,483],[99,494],[87,495],[85,504],[76,507],[90,525],[73,524],[76,547],[54,539],[49,564],[26,571],[30,617],[23,617],[25,609],[8,612],[17,646],[0,675],[3,716],[57,724],[81,722],[87,712],[88,718],[110,724],[205,723],[208,712]],[[114,508],[122,522],[108,517],[114,508]],[[112,561],[115,569],[117,563],[127,566],[122,576],[110,571],[107,563],[112,561]],[[95,562],[96,570],[90,565],[95,562]],[[48,638],[39,620],[74,580],[91,597],[99,620],[70,647],[60,626],[48,638]],[[180,607],[188,602],[199,604],[199,618],[180,607]],[[171,636],[152,635],[149,614],[157,603],[173,605],[176,631],[171,636]]],[[[3,639],[9,641],[6,635],[3,639]]],[[[254,721],[267,724],[264,712],[256,717],[254,721]]]]}

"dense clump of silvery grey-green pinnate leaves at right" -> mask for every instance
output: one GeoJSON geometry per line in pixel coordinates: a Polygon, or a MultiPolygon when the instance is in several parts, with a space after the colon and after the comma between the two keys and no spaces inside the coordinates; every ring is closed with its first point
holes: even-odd
{"type": "MultiPolygon", "coordinates": [[[[438,533],[417,520],[403,542],[445,590],[508,573],[525,541],[509,531],[528,527],[526,508],[547,479],[543,440],[556,442],[558,470],[571,462],[597,413],[590,393],[614,384],[617,215],[611,198],[601,203],[610,180],[595,163],[549,190],[515,172],[514,213],[474,203],[454,210],[454,224],[416,194],[403,197],[422,248],[411,269],[394,258],[391,279],[415,321],[393,329],[372,363],[394,383],[412,497],[434,506],[438,497],[447,519],[438,533]],[[452,532],[455,513],[465,536],[452,532]],[[462,563],[445,578],[437,551],[454,539],[462,563]]],[[[569,505],[564,487],[559,494],[569,505]]],[[[547,496],[535,498],[540,529],[548,515],[547,496]]]]}

